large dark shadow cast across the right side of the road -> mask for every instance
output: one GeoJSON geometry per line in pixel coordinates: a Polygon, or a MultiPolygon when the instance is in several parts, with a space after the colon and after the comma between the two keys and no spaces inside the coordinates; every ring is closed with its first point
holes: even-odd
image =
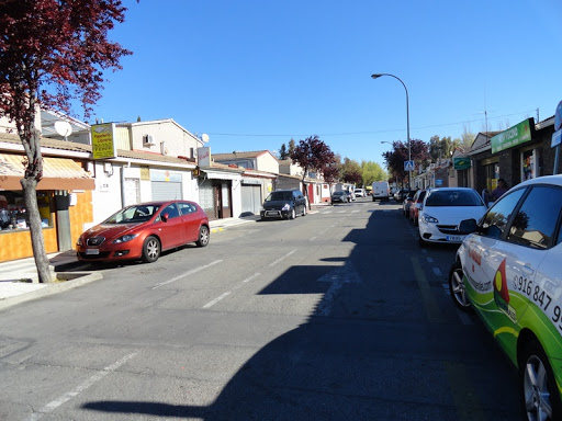
{"type": "Polygon", "coordinates": [[[488,385],[490,342],[479,330],[453,317],[441,325],[427,321],[408,259],[420,251],[411,237],[404,240],[407,235],[400,212],[374,212],[364,229],[345,238],[356,244],[349,257],[326,259],[344,265],[293,266],[260,291],[323,298],[305,323],[248,360],[212,405],[102,400],[82,408],[116,418],[203,420],[517,418],[513,399],[501,400],[488,385]],[[470,367],[469,384],[477,384],[472,400],[462,387],[457,395],[451,387],[448,364],[461,362],[470,367]]]}

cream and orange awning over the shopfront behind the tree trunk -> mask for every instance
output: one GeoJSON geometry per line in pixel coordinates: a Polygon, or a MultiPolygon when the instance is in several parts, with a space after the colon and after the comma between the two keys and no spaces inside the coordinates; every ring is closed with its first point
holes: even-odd
{"type": "MultiPolygon", "coordinates": [[[[0,153],[0,189],[22,190],[23,155],[0,153]]],[[[94,180],[72,159],[43,157],[37,190],[94,190],[94,180]]]]}

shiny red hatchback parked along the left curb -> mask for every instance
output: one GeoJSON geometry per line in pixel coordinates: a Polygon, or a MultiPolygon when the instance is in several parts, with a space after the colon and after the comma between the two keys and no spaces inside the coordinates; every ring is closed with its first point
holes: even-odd
{"type": "Polygon", "coordinates": [[[124,207],[78,239],[81,261],[156,262],[162,251],[189,242],[205,247],[210,239],[209,218],[193,202],[167,201],[124,207]]]}

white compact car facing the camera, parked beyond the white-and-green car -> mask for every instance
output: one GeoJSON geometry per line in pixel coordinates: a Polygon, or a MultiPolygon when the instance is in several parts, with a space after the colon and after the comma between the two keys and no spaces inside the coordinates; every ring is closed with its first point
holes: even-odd
{"type": "Polygon", "coordinates": [[[474,189],[432,189],[424,198],[418,214],[419,242],[462,242],[457,226],[463,219],[479,220],[487,210],[474,189]]]}

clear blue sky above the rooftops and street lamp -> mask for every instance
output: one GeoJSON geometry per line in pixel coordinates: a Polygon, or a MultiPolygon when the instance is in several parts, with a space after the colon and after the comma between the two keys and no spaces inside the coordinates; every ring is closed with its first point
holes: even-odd
{"type": "Polygon", "coordinates": [[[278,150],[318,135],[383,163],[411,137],[460,137],[554,114],[559,0],[124,0],[110,34],[134,52],[106,73],[94,117],[173,118],[212,153],[278,150]]]}

